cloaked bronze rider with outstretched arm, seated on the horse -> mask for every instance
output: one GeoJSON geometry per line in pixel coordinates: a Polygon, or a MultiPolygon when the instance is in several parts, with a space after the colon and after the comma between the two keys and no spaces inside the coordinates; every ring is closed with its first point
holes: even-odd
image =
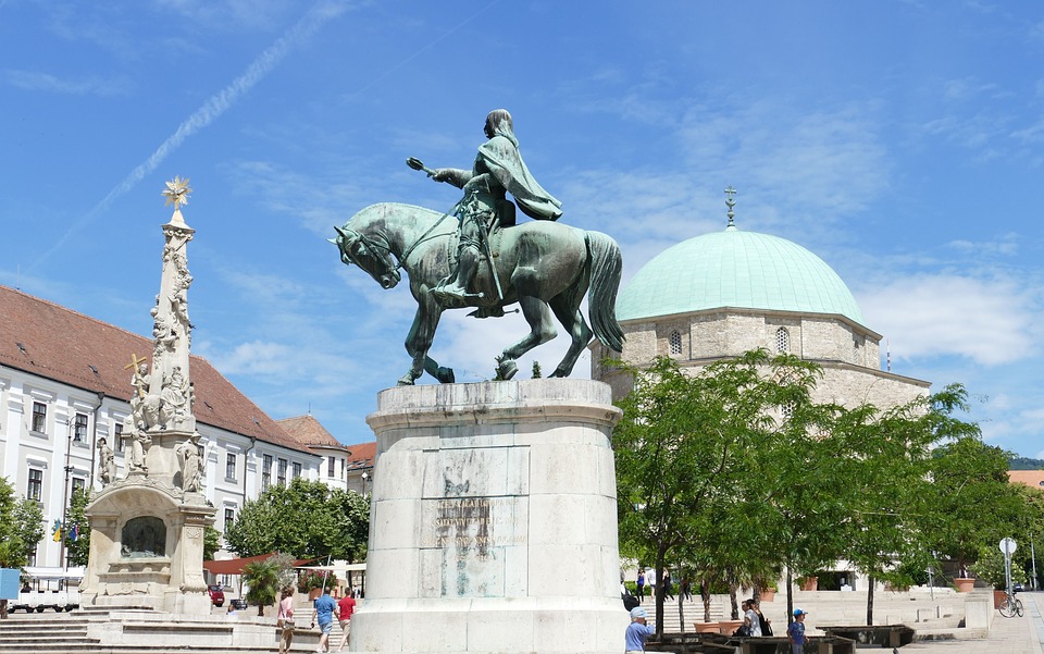
{"type": "Polygon", "coordinates": [[[460,220],[457,267],[432,289],[435,297],[449,307],[468,304],[468,286],[493,230],[514,224],[514,205],[507,199],[506,192],[511,193],[514,202],[530,218],[558,220],[562,214],[562,203],[544,190],[525,168],[511,114],[506,109],[490,111],[483,132],[489,140],[478,146],[472,170],[440,168],[432,175],[436,182],[448,182],[464,190],[463,199],[457,205],[460,220]]]}

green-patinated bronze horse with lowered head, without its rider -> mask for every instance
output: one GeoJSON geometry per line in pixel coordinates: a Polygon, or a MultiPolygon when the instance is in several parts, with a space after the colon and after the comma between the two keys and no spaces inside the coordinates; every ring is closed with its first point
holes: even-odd
{"type": "MultiPolygon", "coordinates": [[[[457,219],[385,202],[366,207],[344,227],[334,229],[337,238],[331,243],[340,250],[340,260],[355,263],[382,287],[394,288],[399,283],[399,269],[409,274],[417,314],[406,350],[413,362],[399,384],[412,384],[424,371],[439,382],[452,383],[452,369],[440,367],[427,353],[447,308],[432,295],[432,288],[450,274],[457,219]]],[[[495,232],[488,252],[496,275],[483,262],[469,287],[467,304],[451,308],[475,307],[480,317],[489,317],[502,316],[504,307],[519,303],[530,333],[498,358],[498,379],[511,379],[518,372],[515,359],[556,336],[551,312],[572,342],[550,377],[569,377],[592,331],[602,345],[621,351],[624,336],[616,319],[616,303],[623,261],[612,238],[556,222],[533,221],[495,232]],[[591,328],[580,311],[588,288],[591,328]]]]}

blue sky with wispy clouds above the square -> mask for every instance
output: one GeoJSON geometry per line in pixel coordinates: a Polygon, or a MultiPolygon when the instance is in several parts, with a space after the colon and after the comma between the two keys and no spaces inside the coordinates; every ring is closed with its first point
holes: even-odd
{"type": "MultiPolygon", "coordinates": [[[[841,274],[894,372],[964,383],[989,442],[1041,457],[1042,64],[1028,1],[0,0],[0,283],[149,334],[160,192],[190,177],[194,351],[272,417],[370,440],[413,304],[325,239],[377,201],[448,209],[403,160],[469,168],[505,107],[625,276],[723,229],[733,185],[741,229],[841,274]]],[[[457,313],[433,356],[488,379],[524,326],[457,313]]]]}

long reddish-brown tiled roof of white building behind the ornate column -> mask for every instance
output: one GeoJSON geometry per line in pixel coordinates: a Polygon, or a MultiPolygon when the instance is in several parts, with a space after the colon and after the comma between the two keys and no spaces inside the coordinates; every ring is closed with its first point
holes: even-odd
{"type": "MultiPolygon", "coordinates": [[[[151,360],[152,341],[0,286],[0,366],[129,402],[132,353],[151,360]]],[[[199,422],[309,452],[207,359],[192,356],[190,375],[199,422]]]]}

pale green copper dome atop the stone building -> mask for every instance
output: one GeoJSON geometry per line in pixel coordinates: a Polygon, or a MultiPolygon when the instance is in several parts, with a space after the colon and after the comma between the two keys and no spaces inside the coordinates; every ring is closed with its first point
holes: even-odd
{"type": "Polygon", "coordinates": [[[862,324],[856,298],[801,246],[730,225],[660,252],[617,298],[617,319],[637,320],[735,307],[841,313],[862,324]]]}

